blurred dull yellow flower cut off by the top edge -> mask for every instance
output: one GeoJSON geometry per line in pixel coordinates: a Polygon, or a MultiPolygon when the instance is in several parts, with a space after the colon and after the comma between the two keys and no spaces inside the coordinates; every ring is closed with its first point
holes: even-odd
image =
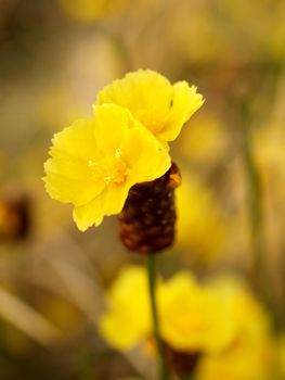
{"type": "Polygon", "coordinates": [[[118,12],[128,0],[60,0],[68,17],[92,23],[118,12]]]}

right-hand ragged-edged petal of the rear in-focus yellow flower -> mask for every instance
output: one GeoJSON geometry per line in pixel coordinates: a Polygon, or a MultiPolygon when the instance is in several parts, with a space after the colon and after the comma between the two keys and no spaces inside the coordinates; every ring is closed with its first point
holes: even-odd
{"type": "Polygon", "coordinates": [[[159,137],[166,141],[174,140],[183,125],[204,103],[202,94],[196,92],[195,86],[189,86],[186,81],[178,81],[173,85],[172,105],[168,119],[159,137]]]}

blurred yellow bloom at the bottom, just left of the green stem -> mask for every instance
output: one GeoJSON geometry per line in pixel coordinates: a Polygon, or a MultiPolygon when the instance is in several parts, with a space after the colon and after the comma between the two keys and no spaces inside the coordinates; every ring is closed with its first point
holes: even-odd
{"type": "Polygon", "coordinates": [[[107,311],[99,328],[105,340],[118,350],[128,350],[151,333],[152,320],[144,268],[128,266],[121,270],[107,297],[107,311]]]}

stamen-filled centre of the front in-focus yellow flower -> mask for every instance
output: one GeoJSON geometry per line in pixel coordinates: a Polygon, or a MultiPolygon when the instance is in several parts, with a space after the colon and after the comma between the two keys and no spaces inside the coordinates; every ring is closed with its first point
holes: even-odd
{"type": "Polygon", "coordinates": [[[93,177],[103,179],[106,185],[124,182],[127,177],[128,167],[119,149],[116,149],[113,156],[99,161],[89,160],[88,166],[92,169],[93,177]]]}

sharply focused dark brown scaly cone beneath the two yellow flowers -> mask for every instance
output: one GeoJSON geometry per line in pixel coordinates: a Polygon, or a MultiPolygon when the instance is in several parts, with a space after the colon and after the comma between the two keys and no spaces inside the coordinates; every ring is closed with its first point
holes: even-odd
{"type": "Polygon", "coordinates": [[[124,245],[142,254],[156,253],[174,240],[174,189],[180,185],[179,168],[150,182],[134,185],[119,215],[119,236],[124,245]]]}

